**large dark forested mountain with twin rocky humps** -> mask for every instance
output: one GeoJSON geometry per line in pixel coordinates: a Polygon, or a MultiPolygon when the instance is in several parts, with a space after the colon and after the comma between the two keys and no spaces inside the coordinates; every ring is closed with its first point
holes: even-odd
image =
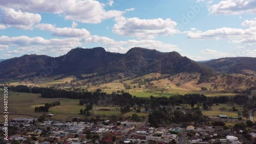
{"type": "MultiPolygon", "coordinates": [[[[98,75],[124,73],[142,76],[150,73],[178,74],[200,73],[212,76],[212,70],[177,52],[162,53],[134,47],[126,54],[106,52],[102,47],[82,49],[77,47],[66,55],[49,57],[24,55],[0,63],[0,78],[29,78],[32,76],[98,75]]],[[[204,80],[201,80],[204,81],[204,80]]]]}

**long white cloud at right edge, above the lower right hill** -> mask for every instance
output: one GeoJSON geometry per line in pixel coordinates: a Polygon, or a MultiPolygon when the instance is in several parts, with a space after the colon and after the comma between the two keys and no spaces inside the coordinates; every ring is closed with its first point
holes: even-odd
{"type": "Polygon", "coordinates": [[[226,38],[235,43],[250,43],[256,42],[256,27],[251,27],[245,30],[224,27],[205,32],[188,32],[187,37],[200,40],[220,40],[226,38]]]}

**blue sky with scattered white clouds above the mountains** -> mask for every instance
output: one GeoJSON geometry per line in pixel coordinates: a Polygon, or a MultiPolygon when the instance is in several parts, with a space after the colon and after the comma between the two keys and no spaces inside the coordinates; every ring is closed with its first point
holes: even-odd
{"type": "Polygon", "coordinates": [[[76,47],[144,47],[196,61],[256,57],[256,0],[0,1],[0,59],[76,47]]]}

